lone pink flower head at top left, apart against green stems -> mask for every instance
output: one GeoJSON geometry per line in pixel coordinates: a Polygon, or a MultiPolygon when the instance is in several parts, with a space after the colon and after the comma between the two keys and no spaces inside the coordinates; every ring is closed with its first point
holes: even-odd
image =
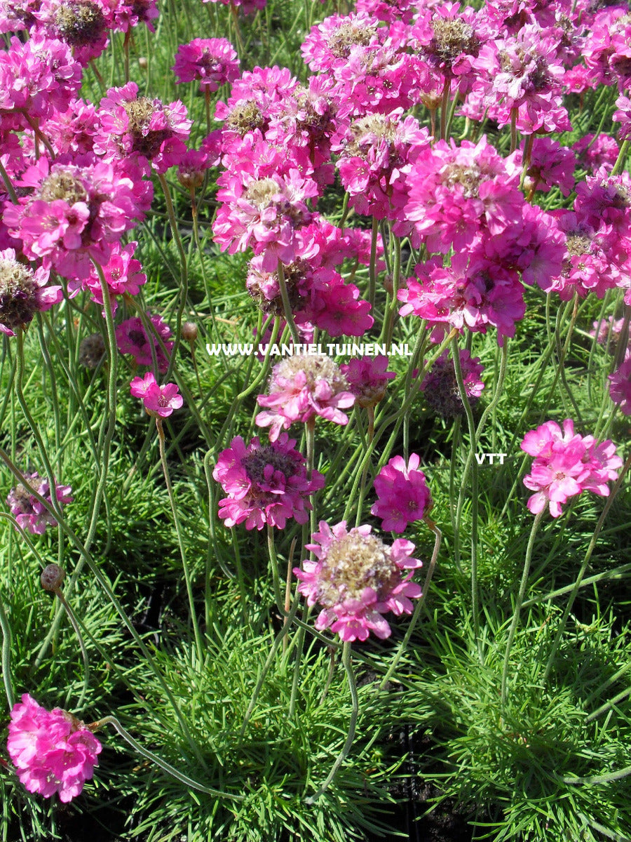
{"type": "Polygon", "coordinates": [[[199,88],[212,92],[239,76],[239,59],[225,38],[194,38],[179,46],[172,71],[178,83],[199,79],[199,88]]]}

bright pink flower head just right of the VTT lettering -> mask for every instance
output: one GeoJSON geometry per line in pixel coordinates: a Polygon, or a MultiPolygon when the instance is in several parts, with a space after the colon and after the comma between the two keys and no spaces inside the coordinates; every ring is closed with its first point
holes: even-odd
{"type": "Polygon", "coordinates": [[[612,441],[599,443],[591,435],[575,434],[570,418],[563,422],[563,430],[546,421],[530,430],[520,446],[535,457],[531,472],[523,478],[526,488],[536,492],[528,499],[528,509],[538,514],[548,506],[553,518],[563,514],[561,504],[583,491],[607,497],[607,482],[617,479],[616,469],[623,464],[612,441]]]}

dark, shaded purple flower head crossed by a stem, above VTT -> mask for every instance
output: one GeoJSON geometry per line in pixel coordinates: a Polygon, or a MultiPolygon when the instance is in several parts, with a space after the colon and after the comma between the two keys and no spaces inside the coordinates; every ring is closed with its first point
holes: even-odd
{"type": "MultiPolygon", "coordinates": [[[[467,350],[461,350],[460,369],[462,370],[464,392],[471,407],[475,407],[485,385],[480,380],[484,365],[480,357],[472,357],[467,350]]],[[[421,389],[425,392],[427,405],[444,418],[454,418],[464,414],[464,404],[456,380],[453,357],[448,351],[438,357],[429,374],[422,381],[421,389]]]]}

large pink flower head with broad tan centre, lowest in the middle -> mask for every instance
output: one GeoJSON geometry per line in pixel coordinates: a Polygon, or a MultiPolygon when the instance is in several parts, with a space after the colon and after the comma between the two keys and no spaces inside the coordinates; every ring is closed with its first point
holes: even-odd
{"type": "Polygon", "coordinates": [[[414,544],[397,538],[387,546],[371,531],[370,526],[348,531],[345,520],[331,528],[321,520],[320,531],[311,536],[314,543],[305,547],[317,561],[305,559],[302,569],[294,568],[307,605],[322,606],[315,628],[331,626],[343,641],[363,641],[370,632],[389,637],[384,613],[411,614],[410,600],[422,595],[421,586],[411,581],[412,571],[422,566],[411,557],[414,544]]]}

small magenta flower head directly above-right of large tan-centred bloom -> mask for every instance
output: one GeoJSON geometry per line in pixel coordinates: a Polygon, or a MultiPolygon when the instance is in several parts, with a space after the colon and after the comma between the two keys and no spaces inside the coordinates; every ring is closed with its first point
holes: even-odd
{"type": "Polygon", "coordinates": [[[395,456],[374,477],[377,502],[370,514],[381,518],[383,530],[403,532],[432,506],[425,474],[418,470],[420,462],[416,453],[410,454],[407,465],[402,456],[395,456]]]}

